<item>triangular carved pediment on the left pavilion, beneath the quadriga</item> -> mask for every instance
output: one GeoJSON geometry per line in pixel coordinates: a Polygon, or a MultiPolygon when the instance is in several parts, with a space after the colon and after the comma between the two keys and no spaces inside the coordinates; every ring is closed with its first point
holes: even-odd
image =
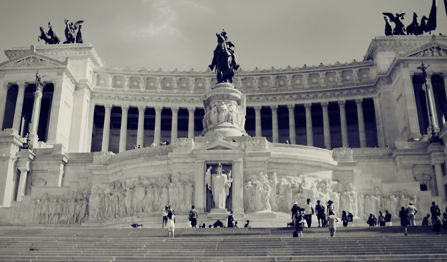
{"type": "Polygon", "coordinates": [[[35,51],[30,51],[24,55],[20,55],[0,63],[0,68],[44,67],[59,65],[66,65],[66,63],[50,56],[43,55],[35,51]]]}

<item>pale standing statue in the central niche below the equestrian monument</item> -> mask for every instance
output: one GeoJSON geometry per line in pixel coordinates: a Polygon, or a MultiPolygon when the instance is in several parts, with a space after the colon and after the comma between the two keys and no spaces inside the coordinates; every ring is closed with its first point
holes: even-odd
{"type": "Polygon", "coordinates": [[[220,163],[217,166],[217,173],[211,174],[211,169],[212,166],[207,169],[205,181],[208,190],[211,190],[213,194],[214,207],[224,209],[226,208],[227,197],[230,194],[230,187],[233,182],[231,170],[228,171],[228,174],[223,173],[220,163]]]}

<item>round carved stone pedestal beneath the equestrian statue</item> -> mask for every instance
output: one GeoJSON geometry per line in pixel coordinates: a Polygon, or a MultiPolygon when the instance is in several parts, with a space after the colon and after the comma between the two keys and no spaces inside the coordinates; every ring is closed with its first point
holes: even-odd
{"type": "Polygon", "coordinates": [[[245,135],[245,95],[231,83],[219,83],[208,91],[203,100],[205,136],[245,135]]]}

